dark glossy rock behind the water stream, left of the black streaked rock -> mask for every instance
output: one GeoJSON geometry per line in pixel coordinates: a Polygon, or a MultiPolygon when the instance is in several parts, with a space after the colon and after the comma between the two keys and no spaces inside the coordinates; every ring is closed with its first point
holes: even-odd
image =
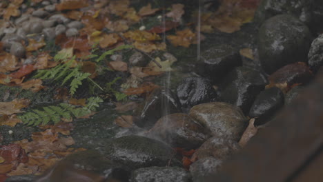
{"type": "Polygon", "coordinates": [[[169,89],[159,88],[154,90],[135,110],[137,116],[135,124],[139,127],[152,128],[158,119],[176,112],[182,112],[177,95],[169,89]]]}

